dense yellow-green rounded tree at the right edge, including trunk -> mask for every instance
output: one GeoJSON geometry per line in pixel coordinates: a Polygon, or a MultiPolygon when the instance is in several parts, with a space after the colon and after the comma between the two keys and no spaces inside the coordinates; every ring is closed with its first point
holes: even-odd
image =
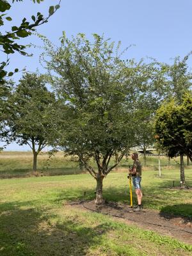
{"type": "Polygon", "coordinates": [[[180,156],[180,181],[184,186],[184,155],[192,160],[191,110],[192,94],[188,92],[182,97],[182,104],[173,99],[163,104],[155,120],[158,147],[167,152],[169,157],[180,156]]]}

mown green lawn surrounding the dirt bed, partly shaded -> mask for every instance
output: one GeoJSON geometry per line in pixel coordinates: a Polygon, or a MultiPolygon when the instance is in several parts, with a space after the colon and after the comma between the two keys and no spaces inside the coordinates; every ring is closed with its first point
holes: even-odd
{"type": "MultiPolygon", "coordinates": [[[[192,216],[192,191],[170,189],[179,170],[156,173],[143,172],[145,207],[192,216]]],[[[186,180],[192,186],[192,170],[186,180]]],[[[191,255],[192,246],[175,239],[67,205],[84,191],[95,197],[88,174],[0,180],[0,255],[191,255]]],[[[109,173],[104,197],[129,204],[126,173],[109,173]]]]}

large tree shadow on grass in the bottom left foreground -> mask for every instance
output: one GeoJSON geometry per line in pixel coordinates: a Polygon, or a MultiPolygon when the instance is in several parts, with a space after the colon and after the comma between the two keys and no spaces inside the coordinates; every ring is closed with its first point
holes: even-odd
{"type": "Polygon", "coordinates": [[[111,229],[108,223],[87,227],[73,218],[64,216],[61,220],[56,214],[45,214],[39,209],[20,209],[28,205],[31,202],[0,205],[1,256],[86,255],[89,248],[98,246],[100,237],[111,229]]]}

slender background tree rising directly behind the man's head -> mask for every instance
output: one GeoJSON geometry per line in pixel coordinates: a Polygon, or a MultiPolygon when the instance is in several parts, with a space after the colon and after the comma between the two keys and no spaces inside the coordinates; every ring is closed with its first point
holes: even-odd
{"type": "MultiPolygon", "coordinates": [[[[154,62],[146,65],[140,63],[140,97],[135,102],[135,113],[140,122],[134,128],[135,145],[143,150],[144,166],[146,166],[147,147],[154,145],[153,118],[164,97],[170,90],[166,83],[167,68],[162,63],[154,62]]],[[[137,86],[138,86],[137,84],[137,86]]]]}

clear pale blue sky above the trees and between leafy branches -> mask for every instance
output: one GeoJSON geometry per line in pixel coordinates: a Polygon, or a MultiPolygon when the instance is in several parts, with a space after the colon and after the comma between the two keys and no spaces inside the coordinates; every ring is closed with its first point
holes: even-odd
{"type": "MultiPolygon", "coordinates": [[[[12,2],[12,1],[9,1],[12,2]]],[[[46,16],[49,6],[58,4],[58,0],[44,0],[41,4],[24,0],[14,3],[7,12],[13,17],[6,22],[6,30],[19,25],[22,18],[31,19],[31,15],[42,12],[46,16]]],[[[61,8],[49,19],[47,24],[38,27],[38,33],[47,36],[54,44],[62,31],[68,37],[77,33],[85,33],[92,39],[92,33],[104,35],[115,42],[122,41],[122,47],[132,46],[126,52],[126,58],[140,60],[146,56],[159,61],[172,63],[175,56],[188,54],[192,50],[192,1],[191,0],[61,0],[61,8]]],[[[36,36],[25,38],[24,44],[42,45],[36,36]]],[[[10,70],[26,67],[29,71],[44,72],[38,61],[40,49],[30,48],[33,57],[14,54],[11,57],[10,70]]],[[[192,57],[189,58],[192,66],[192,57]]],[[[21,73],[13,79],[18,81],[21,73]]],[[[7,150],[29,150],[28,146],[19,147],[11,144],[7,150]]]]}

